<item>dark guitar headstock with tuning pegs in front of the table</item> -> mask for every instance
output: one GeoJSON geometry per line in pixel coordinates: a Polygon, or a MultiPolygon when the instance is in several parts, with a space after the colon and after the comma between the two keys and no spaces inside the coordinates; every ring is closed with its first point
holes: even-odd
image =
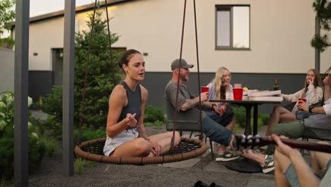
{"type": "Polygon", "coordinates": [[[260,137],[260,135],[235,135],[236,142],[234,147],[236,149],[256,149],[264,145],[268,145],[268,138],[260,137]]]}

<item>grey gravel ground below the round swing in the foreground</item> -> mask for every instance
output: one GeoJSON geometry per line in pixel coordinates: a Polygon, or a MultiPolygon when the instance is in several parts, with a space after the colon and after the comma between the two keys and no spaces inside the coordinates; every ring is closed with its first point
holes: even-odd
{"type": "MultiPolygon", "coordinates": [[[[155,128],[146,128],[149,135],[165,132],[155,128]]],[[[210,155],[203,159],[203,166],[211,162],[210,155]]],[[[95,164],[86,166],[83,174],[62,176],[62,153],[58,150],[53,157],[45,157],[40,169],[29,176],[29,186],[194,186],[197,181],[220,186],[247,186],[251,174],[225,171],[205,171],[201,163],[190,169],[178,169],[158,165],[132,166],[115,164],[95,164]]]]}

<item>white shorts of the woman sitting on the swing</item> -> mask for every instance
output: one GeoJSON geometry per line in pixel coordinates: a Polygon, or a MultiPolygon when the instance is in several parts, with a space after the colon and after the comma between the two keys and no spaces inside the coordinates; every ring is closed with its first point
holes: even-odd
{"type": "Polygon", "coordinates": [[[103,147],[103,154],[105,154],[105,156],[109,156],[117,147],[122,145],[122,143],[134,140],[138,137],[138,135],[139,133],[134,128],[129,130],[123,130],[116,137],[107,136],[105,147],[103,147]]]}

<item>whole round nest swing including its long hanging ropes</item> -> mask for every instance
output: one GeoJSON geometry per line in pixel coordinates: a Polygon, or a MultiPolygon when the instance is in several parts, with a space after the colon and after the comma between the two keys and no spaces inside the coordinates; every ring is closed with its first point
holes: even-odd
{"type": "MultiPolygon", "coordinates": [[[[90,35],[90,44],[88,47],[88,59],[86,62],[86,77],[88,71],[88,62],[89,57],[91,55],[91,40],[92,40],[92,33],[93,33],[93,25],[94,25],[94,17],[95,17],[95,10],[96,10],[97,0],[95,0],[94,10],[93,10],[93,22],[91,27],[91,35],[90,35]]],[[[109,27],[109,18],[108,18],[108,8],[107,8],[107,0],[105,0],[105,9],[107,15],[107,23],[108,23],[108,38],[110,43],[110,59],[112,62],[112,50],[111,50],[111,42],[110,42],[110,27],[109,27]]],[[[186,8],[186,0],[184,4],[184,18],[183,18],[183,30],[184,30],[184,23],[185,23],[185,8],[186,8]]],[[[196,21],[195,17],[195,0],[194,0],[194,21],[196,21]]],[[[195,28],[197,32],[197,27],[195,28]]],[[[183,38],[183,32],[182,32],[183,38]]],[[[196,35],[197,40],[197,35],[196,35]]],[[[198,57],[198,55],[197,55],[198,57]]],[[[182,42],[180,48],[180,60],[182,59],[182,42]]],[[[199,58],[197,60],[198,63],[198,74],[199,74],[199,58]]],[[[112,77],[114,82],[114,77],[112,77]]],[[[86,81],[86,79],[85,79],[86,81]]],[[[199,79],[198,79],[199,81],[199,79]]],[[[81,104],[81,111],[83,111],[83,103],[85,98],[85,82],[84,82],[84,89],[83,89],[83,99],[81,104]]],[[[200,81],[199,81],[199,88],[200,88],[200,81]]],[[[177,91],[178,92],[178,91],[177,91]]],[[[178,93],[177,96],[178,98],[178,93]]],[[[201,108],[200,108],[201,110],[201,108]]],[[[201,112],[200,112],[201,113],[201,112]]],[[[200,121],[201,115],[200,115],[200,121]]],[[[82,118],[80,121],[80,127],[82,123],[82,118]]],[[[80,128],[81,129],[81,128],[80,128]]],[[[202,127],[201,127],[202,129],[202,127]]],[[[173,128],[173,132],[175,132],[175,125],[173,128]]],[[[170,152],[157,156],[157,157],[108,157],[103,154],[103,147],[105,146],[106,137],[96,139],[96,140],[88,140],[86,142],[81,142],[79,145],[76,145],[74,152],[76,156],[81,157],[82,159],[91,160],[94,162],[101,162],[101,163],[109,163],[109,164],[132,164],[132,165],[145,165],[145,164],[163,164],[168,162],[179,162],[186,159],[192,159],[195,157],[199,157],[200,155],[204,154],[207,151],[207,145],[202,141],[203,139],[203,132],[201,132],[199,139],[192,139],[188,137],[181,137],[181,142],[178,146],[173,146],[173,140],[170,147],[170,152]]]]}

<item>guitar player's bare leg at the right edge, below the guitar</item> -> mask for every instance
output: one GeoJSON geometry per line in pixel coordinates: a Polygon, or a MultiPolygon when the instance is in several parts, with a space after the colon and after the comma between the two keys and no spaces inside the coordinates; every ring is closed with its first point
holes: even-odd
{"type": "MultiPolygon", "coordinates": [[[[328,142],[318,142],[319,144],[327,144],[328,142]]],[[[311,168],[316,174],[321,174],[321,171],[326,169],[327,162],[331,159],[331,154],[324,152],[311,152],[311,168]]]]}

